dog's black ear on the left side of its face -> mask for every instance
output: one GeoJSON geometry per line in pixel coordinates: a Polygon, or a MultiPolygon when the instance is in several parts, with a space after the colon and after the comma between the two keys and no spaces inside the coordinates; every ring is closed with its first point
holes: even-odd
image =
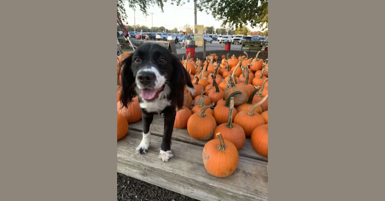
{"type": "Polygon", "coordinates": [[[132,102],[132,98],[136,96],[135,77],[131,69],[132,54],[123,60],[122,66],[122,91],[120,93],[120,101],[123,106],[128,106],[132,102]]]}

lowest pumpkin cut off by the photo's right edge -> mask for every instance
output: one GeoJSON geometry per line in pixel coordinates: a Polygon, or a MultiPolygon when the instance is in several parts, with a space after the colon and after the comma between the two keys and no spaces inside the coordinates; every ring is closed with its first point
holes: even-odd
{"type": "Polygon", "coordinates": [[[263,124],[251,133],[251,145],[258,154],[268,157],[268,144],[268,125],[263,124]]]}

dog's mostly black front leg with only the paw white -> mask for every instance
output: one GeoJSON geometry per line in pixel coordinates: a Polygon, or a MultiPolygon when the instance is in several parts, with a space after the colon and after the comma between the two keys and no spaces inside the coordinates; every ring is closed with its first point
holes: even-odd
{"type": "Polygon", "coordinates": [[[164,114],[164,132],[160,153],[158,158],[163,162],[168,161],[173,155],[171,153],[171,135],[174,128],[176,111],[174,107],[167,107],[163,110],[164,114]]]}

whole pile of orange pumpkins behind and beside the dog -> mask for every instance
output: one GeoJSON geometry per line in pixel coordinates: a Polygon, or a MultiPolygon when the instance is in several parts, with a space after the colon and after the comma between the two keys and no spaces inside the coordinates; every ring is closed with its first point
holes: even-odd
{"type": "MultiPolygon", "coordinates": [[[[174,128],[186,129],[194,139],[210,140],[202,157],[206,170],[214,176],[226,177],[235,171],[238,150],[248,137],[257,153],[268,156],[268,63],[267,59],[258,58],[259,53],[254,58],[249,58],[246,52],[238,57],[219,57],[213,53],[205,61],[189,59],[187,55],[180,61],[189,72],[196,93],[190,94],[185,89],[183,108],[176,111],[174,128]],[[218,165],[218,161],[223,164],[218,165]]],[[[121,60],[118,57],[118,85],[120,62],[125,56],[121,60]]],[[[121,108],[119,90],[120,86],[118,117],[125,117],[128,124],[139,121],[137,97],[128,108],[121,108]]]]}

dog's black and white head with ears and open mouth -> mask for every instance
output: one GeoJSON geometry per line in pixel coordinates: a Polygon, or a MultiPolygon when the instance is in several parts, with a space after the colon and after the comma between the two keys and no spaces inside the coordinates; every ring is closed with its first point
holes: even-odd
{"type": "Polygon", "coordinates": [[[120,99],[124,106],[136,95],[144,102],[168,98],[178,108],[183,105],[183,90],[186,83],[191,82],[190,76],[166,48],[153,43],[142,44],[122,65],[120,99]]]}

